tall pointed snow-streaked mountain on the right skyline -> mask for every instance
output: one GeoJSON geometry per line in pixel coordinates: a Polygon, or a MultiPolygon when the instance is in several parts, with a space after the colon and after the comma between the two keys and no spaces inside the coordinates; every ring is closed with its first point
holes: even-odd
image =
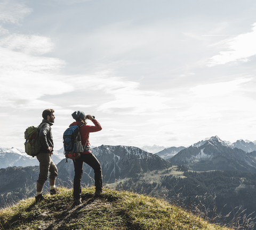
{"type": "Polygon", "coordinates": [[[196,143],[168,160],[172,165],[186,165],[194,171],[239,170],[256,172],[256,152],[230,148],[218,137],[196,143]],[[202,144],[202,145],[201,145],[202,144]]]}

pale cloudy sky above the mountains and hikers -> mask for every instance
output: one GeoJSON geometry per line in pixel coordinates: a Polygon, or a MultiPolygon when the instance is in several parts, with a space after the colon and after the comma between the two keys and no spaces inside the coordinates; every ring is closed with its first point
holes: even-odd
{"type": "Polygon", "coordinates": [[[254,0],[0,0],[0,147],[55,110],[92,146],[256,140],[254,0]],[[93,125],[91,121],[88,124],[93,125]]]}

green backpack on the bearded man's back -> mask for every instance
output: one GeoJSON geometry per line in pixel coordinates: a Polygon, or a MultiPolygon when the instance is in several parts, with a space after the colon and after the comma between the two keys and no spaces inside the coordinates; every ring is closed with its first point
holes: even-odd
{"type": "MultiPolygon", "coordinates": [[[[44,123],[43,123],[44,124],[44,123]]],[[[39,131],[41,129],[41,126],[35,127],[30,126],[27,127],[25,131],[25,152],[32,157],[35,157],[41,148],[41,144],[39,141],[39,131]]]]}

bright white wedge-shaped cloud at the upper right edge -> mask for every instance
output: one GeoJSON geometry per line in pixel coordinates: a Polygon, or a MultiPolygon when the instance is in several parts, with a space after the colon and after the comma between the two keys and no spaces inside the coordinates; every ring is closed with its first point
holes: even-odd
{"type": "Polygon", "coordinates": [[[222,41],[228,51],[221,51],[209,59],[207,66],[226,64],[229,62],[249,61],[249,57],[256,55],[256,23],[253,24],[252,32],[238,35],[233,39],[222,41]]]}

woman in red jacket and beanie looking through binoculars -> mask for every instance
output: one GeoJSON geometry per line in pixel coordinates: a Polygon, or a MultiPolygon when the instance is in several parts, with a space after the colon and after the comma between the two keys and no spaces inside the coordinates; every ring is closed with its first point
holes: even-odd
{"type": "Polygon", "coordinates": [[[80,135],[81,141],[83,146],[85,146],[83,154],[76,160],[73,160],[74,167],[75,167],[75,177],[74,177],[74,199],[76,200],[77,205],[82,203],[81,201],[81,179],[83,175],[83,165],[84,162],[91,166],[94,170],[94,181],[95,181],[95,195],[99,195],[102,192],[102,172],[101,172],[101,165],[98,159],[92,154],[90,149],[90,142],[89,142],[89,135],[92,132],[98,132],[102,130],[100,123],[95,120],[91,115],[85,116],[84,112],[76,111],[72,114],[72,117],[76,120],[71,125],[79,125],[83,123],[80,127],[80,135]],[[94,126],[87,125],[86,119],[89,119],[93,122],[94,126]]]}

